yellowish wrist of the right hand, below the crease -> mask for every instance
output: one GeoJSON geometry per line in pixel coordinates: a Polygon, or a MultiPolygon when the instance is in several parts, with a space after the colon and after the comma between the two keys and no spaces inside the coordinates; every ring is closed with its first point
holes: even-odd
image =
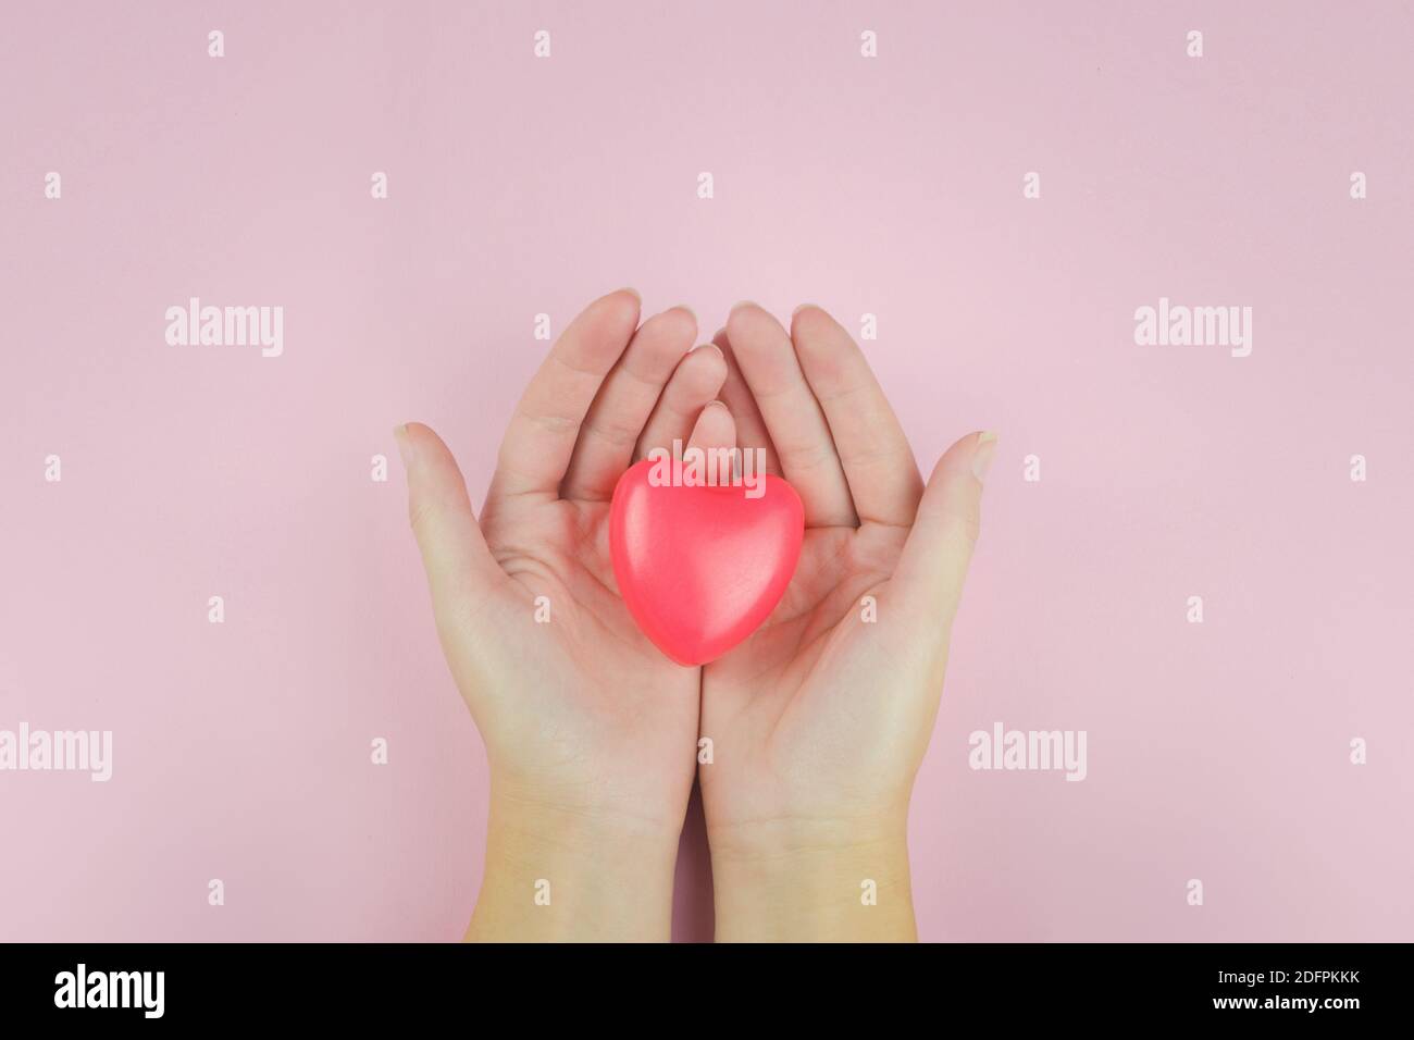
{"type": "Polygon", "coordinates": [[[720,942],[913,941],[908,811],[713,826],[720,942]]]}

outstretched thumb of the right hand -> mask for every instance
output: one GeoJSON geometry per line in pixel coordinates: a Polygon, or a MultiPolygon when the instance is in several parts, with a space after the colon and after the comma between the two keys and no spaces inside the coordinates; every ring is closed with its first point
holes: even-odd
{"type": "Polygon", "coordinates": [[[911,608],[950,625],[981,525],[981,483],[997,434],[970,433],[943,453],[918,505],[891,587],[911,608]]]}

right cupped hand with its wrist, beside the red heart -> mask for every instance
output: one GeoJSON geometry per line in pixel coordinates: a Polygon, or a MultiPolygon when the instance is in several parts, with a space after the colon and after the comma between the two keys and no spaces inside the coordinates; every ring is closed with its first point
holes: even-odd
{"type": "Polygon", "coordinates": [[[925,488],[863,352],[819,307],[738,304],[717,335],[741,447],[806,533],[771,618],[703,672],[718,938],[912,938],[906,818],[978,531],[991,434],[925,488]]]}

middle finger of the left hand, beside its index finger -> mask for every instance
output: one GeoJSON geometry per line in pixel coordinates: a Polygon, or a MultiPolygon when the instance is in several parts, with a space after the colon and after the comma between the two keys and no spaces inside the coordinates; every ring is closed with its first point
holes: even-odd
{"type": "Polygon", "coordinates": [[[633,460],[663,386],[697,338],[697,318],[686,307],[655,314],[633,334],[624,357],[600,388],[580,429],[561,498],[607,501],[633,460]]]}

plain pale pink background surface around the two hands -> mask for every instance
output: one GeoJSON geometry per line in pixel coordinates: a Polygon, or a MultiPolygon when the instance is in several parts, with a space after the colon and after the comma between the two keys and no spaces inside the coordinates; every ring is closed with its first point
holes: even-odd
{"type": "MultiPolygon", "coordinates": [[[[874,313],[925,467],[1001,433],[913,799],[925,938],[1414,938],[1408,4],[27,3],[0,30],[0,729],[115,733],[107,784],[0,773],[0,938],[461,935],[485,761],[390,429],[436,426],[479,498],[534,316],[619,284],[704,337],[741,297],[874,313]],[[188,296],[283,306],[284,357],[168,347],[188,296]],[[1159,296],[1253,307],[1251,357],[1134,345],[1159,296]],[[1087,730],[1089,778],[969,770],[998,720],[1087,730]]],[[[706,879],[690,826],[683,938],[706,879]]]]}

